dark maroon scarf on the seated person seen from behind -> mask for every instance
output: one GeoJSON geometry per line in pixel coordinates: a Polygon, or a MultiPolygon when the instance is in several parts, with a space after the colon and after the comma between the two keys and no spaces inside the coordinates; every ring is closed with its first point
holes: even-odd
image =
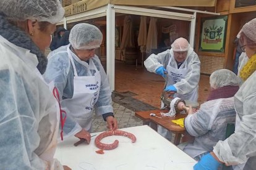
{"type": "Polygon", "coordinates": [[[239,90],[239,86],[224,86],[218,89],[213,89],[208,95],[207,101],[233,97],[238,90],[239,90]]]}

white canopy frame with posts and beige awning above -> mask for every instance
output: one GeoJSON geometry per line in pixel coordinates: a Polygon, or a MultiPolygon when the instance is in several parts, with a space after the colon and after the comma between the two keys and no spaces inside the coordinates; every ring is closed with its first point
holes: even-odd
{"type": "MultiPolygon", "coordinates": [[[[146,1],[137,1],[137,0],[83,0],[87,2],[87,9],[90,9],[90,3],[94,4],[95,9],[91,8],[92,10],[87,10],[86,12],[82,12],[75,15],[70,15],[64,17],[63,21],[58,23],[58,25],[64,24],[66,28],[67,23],[72,22],[79,22],[82,20],[89,20],[92,18],[98,18],[106,16],[106,67],[107,67],[107,75],[109,78],[109,84],[111,89],[114,91],[114,62],[115,62],[115,14],[122,13],[122,14],[132,14],[132,15],[142,15],[142,16],[149,16],[149,17],[160,17],[160,18],[171,18],[176,20],[187,20],[190,21],[190,45],[194,46],[194,34],[195,34],[195,19],[197,12],[207,13],[212,15],[220,15],[213,12],[204,12],[198,10],[190,10],[194,14],[184,14],[180,12],[169,12],[166,10],[156,10],[156,9],[148,9],[145,7],[135,7],[135,6],[122,6],[116,4],[123,4],[123,5],[137,5],[137,6],[164,6],[166,8],[173,8],[176,10],[184,10],[187,9],[171,7],[171,6],[215,6],[216,0],[194,0],[194,1],[174,1],[174,0],[148,0],[146,1]],[[96,3],[99,2],[99,3],[96,3]],[[110,4],[112,2],[114,4],[110,4]],[[136,2],[136,3],[135,3],[136,2]],[[187,2],[187,4],[185,3],[187,2]],[[179,5],[178,5],[178,4],[179,5]],[[184,4],[185,3],[185,4],[184,4]],[[201,3],[201,4],[200,4],[201,3]],[[103,6],[105,5],[105,6],[103,6]]],[[[80,1],[82,2],[82,1],[80,1]]]]}

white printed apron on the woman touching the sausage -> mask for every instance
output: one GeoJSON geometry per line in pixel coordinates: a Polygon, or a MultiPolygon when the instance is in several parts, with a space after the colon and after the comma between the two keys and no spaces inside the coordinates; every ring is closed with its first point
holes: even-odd
{"type": "Polygon", "coordinates": [[[67,109],[70,111],[72,118],[83,129],[90,132],[92,129],[93,107],[98,101],[100,94],[100,71],[96,68],[93,60],[90,59],[89,65],[85,63],[84,66],[90,68],[90,70],[95,70],[95,75],[92,76],[92,73],[89,71],[90,76],[78,76],[69,47],[70,45],[67,46],[67,54],[74,69],[74,92],[71,99],[62,100],[61,106],[64,110],[67,109]]]}

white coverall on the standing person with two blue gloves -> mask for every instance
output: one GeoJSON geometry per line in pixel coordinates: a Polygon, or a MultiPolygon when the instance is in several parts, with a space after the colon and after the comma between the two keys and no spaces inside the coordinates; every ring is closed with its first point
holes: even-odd
{"type": "MultiPolygon", "coordinates": [[[[177,62],[174,59],[173,49],[168,49],[167,51],[161,52],[160,54],[151,54],[147,60],[145,60],[144,65],[148,71],[156,73],[156,69],[163,66],[168,69],[169,67],[177,69],[177,62]]],[[[198,83],[200,79],[200,60],[198,55],[194,52],[191,47],[187,51],[187,58],[182,63],[178,70],[186,70],[184,78],[180,79],[175,84],[172,84],[169,80],[172,79],[171,75],[168,74],[168,84],[174,85],[177,92],[174,97],[179,97],[183,100],[191,100],[192,102],[197,102],[198,98],[198,83]],[[194,92],[195,91],[195,92],[194,92]]],[[[168,71],[169,73],[169,71],[168,71]]]]}

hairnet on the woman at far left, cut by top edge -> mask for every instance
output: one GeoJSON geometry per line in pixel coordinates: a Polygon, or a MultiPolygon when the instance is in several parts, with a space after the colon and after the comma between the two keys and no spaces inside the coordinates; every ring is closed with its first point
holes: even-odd
{"type": "Polygon", "coordinates": [[[0,12],[11,20],[57,23],[64,17],[59,0],[1,0],[0,12]]]}

